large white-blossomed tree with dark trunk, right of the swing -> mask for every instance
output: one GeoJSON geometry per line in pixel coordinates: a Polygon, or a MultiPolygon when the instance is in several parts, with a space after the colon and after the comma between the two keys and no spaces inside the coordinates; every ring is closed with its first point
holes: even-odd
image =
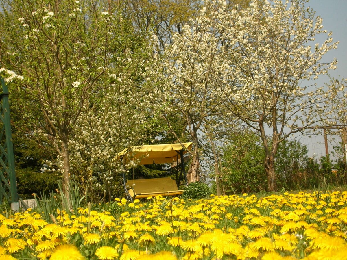
{"type": "Polygon", "coordinates": [[[336,48],[322,19],[308,1],[254,1],[226,20],[228,70],[224,77],[225,105],[232,115],[256,131],[263,142],[268,189],[277,189],[274,160],[281,141],[303,132],[324,112],[323,87],[314,79],[336,68],[336,60],[322,62],[336,48]],[[315,37],[325,34],[322,44],[315,37]],[[229,47],[230,46],[230,47],[229,47]],[[267,136],[272,133],[272,140],[267,136]]]}

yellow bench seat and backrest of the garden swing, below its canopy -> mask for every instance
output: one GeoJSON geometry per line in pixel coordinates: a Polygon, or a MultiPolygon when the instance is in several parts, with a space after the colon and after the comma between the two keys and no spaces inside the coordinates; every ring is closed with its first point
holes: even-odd
{"type": "Polygon", "coordinates": [[[126,183],[126,187],[130,196],[134,199],[155,197],[158,195],[180,195],[184,191],[178,190],[176,181],[172,180],[170,177],[128,180],[126,183]]]}

